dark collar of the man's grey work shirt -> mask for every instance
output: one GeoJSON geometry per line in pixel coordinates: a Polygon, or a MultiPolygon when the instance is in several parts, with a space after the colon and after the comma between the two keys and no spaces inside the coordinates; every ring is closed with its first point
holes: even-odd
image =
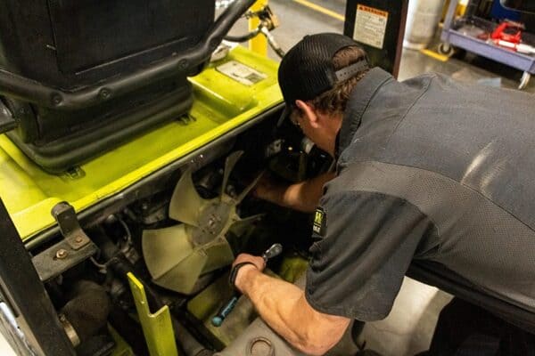
{"type": "Polygon", "coordinates": [[[334,157],[338,159],[340,154],[351,143],[357,132],[362,115],[367,106],[384,83],[392,78],[391,74],[379,67],[370,69],[366,76],[360,79],[350,93],[350,99],[343,114],[342,127],[338,132],[335,143],[334,157]]]}

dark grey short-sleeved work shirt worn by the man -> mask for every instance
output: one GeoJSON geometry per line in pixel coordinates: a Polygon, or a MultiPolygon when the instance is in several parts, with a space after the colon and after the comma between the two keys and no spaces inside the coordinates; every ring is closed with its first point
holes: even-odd
{"type": "Polygon", "coordinates": [[[338,152],[310,248],[317,311],[383,319],[418,261],[535,312],[532,95],[372,69],[350,95],[338,152]]]}

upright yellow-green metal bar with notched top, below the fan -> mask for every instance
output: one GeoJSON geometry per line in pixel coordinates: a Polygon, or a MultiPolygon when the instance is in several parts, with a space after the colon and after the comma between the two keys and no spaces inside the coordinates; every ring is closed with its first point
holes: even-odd
{"type": "Polygon", "coordinates": [[[178,356],[169,307],[166,305],[152,314],[149,311],[149,303],[144,293],[143,284],[131,272],[128,272],[128,282],[132,295],[134,295],[137,316],[141,323],[150,355],[178,356]]]}

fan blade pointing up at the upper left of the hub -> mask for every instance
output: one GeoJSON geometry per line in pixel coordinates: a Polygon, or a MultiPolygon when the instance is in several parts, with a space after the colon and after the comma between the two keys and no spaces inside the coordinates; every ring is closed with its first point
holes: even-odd
{"type": "Polygon", "coordinates": [[[187,169],[177,182],[169,203],[169,217],[178,222],[199,226],[199,212],[205,200],[193,185],[192,171],[187,169]]]}

